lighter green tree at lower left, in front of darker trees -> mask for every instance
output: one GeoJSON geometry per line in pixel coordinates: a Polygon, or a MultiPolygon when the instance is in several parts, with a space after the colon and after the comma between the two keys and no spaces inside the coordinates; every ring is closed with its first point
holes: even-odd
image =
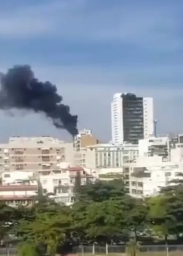
{"type": "MultiPolygon", "coordinates": [[[[19,230],[22,234],[22,241],[27,241],[31,245],[39,248],[40,245],[46,246],[46,252],[54,255],[57,247],[66,240],[71,231],[72,218],[70,209],[63,208],[55,215],[48,212],[37,213],[34,221],[24,221],[20,223],[19,230]],[[68,232],[69,231],[69,232],[68,232]]],[[[25,243],[23,245],[25,246],[25,243]]]]}

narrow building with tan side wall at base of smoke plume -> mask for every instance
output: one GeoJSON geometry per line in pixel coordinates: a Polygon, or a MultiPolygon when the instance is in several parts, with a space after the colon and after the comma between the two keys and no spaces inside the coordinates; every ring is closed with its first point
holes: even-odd
{"type": "Polygon", "coordinates": [[[74,164],[77,166],[87,167],[86,164],[86,147],[96,145],[99,140],[92,134],[91,130],[81,130],[74,137],[74,164]]]}

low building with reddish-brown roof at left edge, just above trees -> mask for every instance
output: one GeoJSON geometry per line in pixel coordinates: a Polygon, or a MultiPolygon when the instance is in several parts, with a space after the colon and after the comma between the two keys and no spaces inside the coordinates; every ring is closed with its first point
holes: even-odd
{"type": "Polygon", "coordinates": [[[0,201],[10,206],[31,206],[37,195],[37,185],[0,185],[0,201]]]}

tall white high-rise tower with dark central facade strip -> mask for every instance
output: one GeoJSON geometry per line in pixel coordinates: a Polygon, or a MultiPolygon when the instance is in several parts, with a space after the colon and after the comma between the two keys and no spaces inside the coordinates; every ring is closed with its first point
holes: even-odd
{"type": "Polygon", "coordinates": [[[137,144],[153,135],[153,99],[132,93],[115,93],[111,103],[112,143],[137,144]]]}

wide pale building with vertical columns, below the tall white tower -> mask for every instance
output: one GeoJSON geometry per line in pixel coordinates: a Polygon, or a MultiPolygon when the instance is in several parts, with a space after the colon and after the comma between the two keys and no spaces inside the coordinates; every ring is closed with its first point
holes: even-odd
{"type": "Polygon", "coordinates": [[[138,145],[97,144],[86,147],[86,166],[91,169],[122,168],[138,156],[138,145]]]}

